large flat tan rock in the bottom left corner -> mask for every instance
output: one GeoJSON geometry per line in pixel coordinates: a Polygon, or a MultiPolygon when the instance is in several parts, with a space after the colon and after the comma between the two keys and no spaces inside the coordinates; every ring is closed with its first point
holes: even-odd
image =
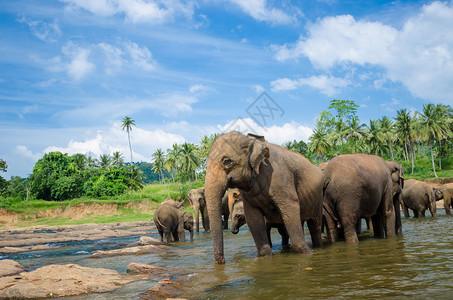
{"type": "Polygon", "coordinates": [[[50,298],[110,292],[135,279],[102,268],[49,265],[0,278],[0,298],[50,298]]]}

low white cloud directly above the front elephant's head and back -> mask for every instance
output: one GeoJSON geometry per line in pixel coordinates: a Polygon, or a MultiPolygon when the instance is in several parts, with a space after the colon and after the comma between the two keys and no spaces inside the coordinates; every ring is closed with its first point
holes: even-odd
{"type": "Polygon", "coordinates": [[[313,130],[310,127],[294,121],[285,123],[281,126],[272,125],[262,127],[250,118],[238,118],[225,125],[218,125],[217,127],[222,133],[239,131],[244,134],[253,133],[263,135],[267,141],[278,145],[293,140],[308,142],[308,137],[313,133],[313,130]]]}

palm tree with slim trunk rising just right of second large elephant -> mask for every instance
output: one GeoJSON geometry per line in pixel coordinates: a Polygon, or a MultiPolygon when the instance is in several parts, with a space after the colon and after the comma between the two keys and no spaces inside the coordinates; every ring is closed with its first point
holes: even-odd
{"type": "Polygon", "coordinates": [[[409,152],[410,152],[410,157],[411,157],[411,162],[412,162],[412,174],[414,174],[415,118],[411,117],[406,109],[401,109],[396,112],[395,120],[396,120],[397,136],[404,141],[404,148],[405,148],[407,157],[409,157],[409,153],[407,151],[407,144],[409,143],[409,152]]]}

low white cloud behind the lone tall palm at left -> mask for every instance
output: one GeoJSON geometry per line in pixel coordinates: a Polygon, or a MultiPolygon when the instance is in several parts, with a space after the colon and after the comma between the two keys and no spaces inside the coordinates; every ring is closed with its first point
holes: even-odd
{"type": "MultiPolygon", "coordinates": [[[[151,154],[158,148],[166,150],[173,143],[184,143],[185,139],[178,135],[161,129],[146,130],[133,127],[131,144],[134,161],[149,161],[151,154]]],[[[98,131],[96,136],[84,141],[70,140],[66,146],[49,146],[43,153],[60,151],[73,155],[76,153],[88,154],[99,157],[102,154],[113,154],[119,151],[125,157],[129,157],[129,144],[126,132],[121,130],[121,124],[115,123],[106,131],[98,131]]]]}

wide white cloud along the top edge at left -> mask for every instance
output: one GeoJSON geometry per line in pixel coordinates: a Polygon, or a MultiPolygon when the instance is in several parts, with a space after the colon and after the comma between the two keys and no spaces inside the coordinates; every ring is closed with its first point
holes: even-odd
{"type": "Polygon", "coordinates": [[[192,17],[194,3],[179,0],[61,0],[68,9],[99,16],[124,15],[133,23],[165,23],[176,16],[192,17]]]}

